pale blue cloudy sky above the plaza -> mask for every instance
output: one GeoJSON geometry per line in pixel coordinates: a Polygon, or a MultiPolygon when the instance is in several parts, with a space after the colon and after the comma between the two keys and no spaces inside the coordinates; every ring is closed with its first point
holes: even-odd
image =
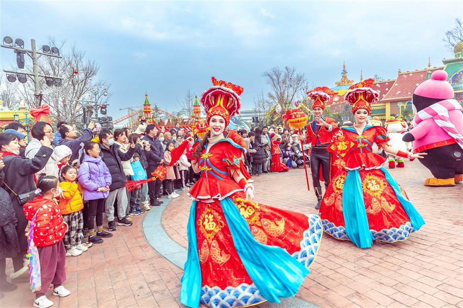
{"type": "MultiPolygon", "coordinates": [[[[462,1],[4,1],[1,37],[26,47],[66,39],[100,65],[111,83],[109,112],[151,103],[176,110],[177,97],[200,95],[210,77],[244,88],[243,109],[268,90],[262,73],[296,66],[309,84],[333,87],[342,62],[359,80],[442,65],[442,41],[462,1]]],[[[2,48],[1,69],[14,54],[2,48]]]]}

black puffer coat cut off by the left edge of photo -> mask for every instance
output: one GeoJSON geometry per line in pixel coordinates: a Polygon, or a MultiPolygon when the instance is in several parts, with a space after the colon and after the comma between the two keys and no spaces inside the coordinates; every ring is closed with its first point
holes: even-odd
{"type": "MultiPolygon", "coordinates": [[[[0,169],[0,186],[3,185],[3,172],[0,169]]],[[[14,258],[19,249],[16,225],[18,219],[14,213],[10,196],[0,187],[0,259],[14,258]]]]}

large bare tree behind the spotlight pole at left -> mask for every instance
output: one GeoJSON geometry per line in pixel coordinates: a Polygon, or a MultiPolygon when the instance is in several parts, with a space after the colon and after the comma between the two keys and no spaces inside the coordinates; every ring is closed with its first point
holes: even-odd
{"type": "MultiPolygon", "coordinates": [[[[45,75],[54,75],[62,77],[61,87],[47,86],[46,80],[40,83],[42,102],[50,105],[50,118],[56,121],[67,121],[70,124],[85,122],[83,119],[84,108],[82,101],[89,101],[89,105],[98,101],[94,92],[103,95],[109,89],[106,81],[97,79],[96,75],[99,65],[95,61],[86,58],[85,52],[78,49],[75,45],[70,46],[66,52],[66,41],[57,42],[49,38],[48,44],[59,48],[62,59],[52,57],[40,57],[38,59],[38,68],[40,73],[45,75]],[[79,102],[80,101],[80,102],[79,102]]],[[[32,63],[26,62],[27,70],[32,71],[32,63]]],[[[16,96],[23,98],[26,105],[34,106],[34,86],[32,82],[17,84],[16,96]]]]}

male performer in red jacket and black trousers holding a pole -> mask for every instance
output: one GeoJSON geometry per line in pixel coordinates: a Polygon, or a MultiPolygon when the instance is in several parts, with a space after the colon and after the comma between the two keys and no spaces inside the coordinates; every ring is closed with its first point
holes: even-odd
{"type": "Polygon", "coordinates": [[[310,144],[312,149],[310,151],[310,170],[312,171],[312,180],[317,196],[318,203],[315,209],[320,209],[323,193],[322,185],[320,185],[320,173],[323,174],[325,181],[325,188],[330,184],[331,173],[331,154],[328,153],[327,147],[329,146],[333,137],[333,129],[336,123],[331,118],[325,118],[323,111],[325,110],[325,103],[330,100],[330,95],[337,94],[328,87],[317,87],[309,92],[309,98],[314,99],[312,103],[314,120],[307,124],[307,134],[305,143],[310,144]]]}

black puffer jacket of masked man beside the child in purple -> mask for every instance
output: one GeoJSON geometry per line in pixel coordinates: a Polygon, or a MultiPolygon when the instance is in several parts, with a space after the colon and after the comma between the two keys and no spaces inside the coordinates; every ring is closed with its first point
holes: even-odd
{"type": "Polygon", "coordinates": [[[117,144],[113,144],[108,149],[101,142],[99,143],[99,148],[101,149],[99,155],[111,174],[112,183],[109,186],[109,191],[122,188],[126,185],[127,177],[124,173],[121,161],[131,159],[133,154],[141,148],[139,144],[136,144],[135,148],[129,148],[129,151],[122,153],[119,150],[120,147],[121,146],[117,144]]]}

